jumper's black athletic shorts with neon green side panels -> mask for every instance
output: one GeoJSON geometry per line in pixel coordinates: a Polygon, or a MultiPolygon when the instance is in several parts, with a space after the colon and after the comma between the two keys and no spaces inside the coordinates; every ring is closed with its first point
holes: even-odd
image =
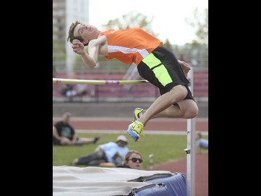
{"type": "Polygon", "coordinates": [[[177,58],[168,48],[157,47],[139,63],[137,68],[139,75],[157,86],[161,95],[181,84],[188,91],[184,99],[194,100],[189,89],[189,80],[187,80],[177,58]]]}

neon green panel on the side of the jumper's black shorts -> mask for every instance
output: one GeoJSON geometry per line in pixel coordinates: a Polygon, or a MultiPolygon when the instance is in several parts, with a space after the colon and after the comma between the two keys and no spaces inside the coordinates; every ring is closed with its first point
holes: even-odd
{"type": "MultiPolygon", "coordinates": [[[[161,61],[159,61],[159,59],[157,59],[157,57],[154,56],[154,54],[152,53],[146,56],[142,61],[150,69],[154,68],[155,66],[161,63],[161,61]]],[[[157,68],[154,68],[152,71],[153,73],[155,73],[157,79],[163,86],[166,86],[167,84],[173,82],[171,77],[168,75],[168,70],[166,70],[163,64],[161,66],[157,66],[157,68]]]]}

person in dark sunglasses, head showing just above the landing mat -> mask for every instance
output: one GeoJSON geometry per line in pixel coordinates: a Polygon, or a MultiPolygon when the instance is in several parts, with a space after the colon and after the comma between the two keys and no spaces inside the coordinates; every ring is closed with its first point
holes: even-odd
{"type": "Polygon", "coordinates": [[[138,151],[128,151],[125,156],[124,162],[122,164],[118,164],[116,167],[126,167],[131,169],[141,169],[142,168],[142,156],[138,151]]]}

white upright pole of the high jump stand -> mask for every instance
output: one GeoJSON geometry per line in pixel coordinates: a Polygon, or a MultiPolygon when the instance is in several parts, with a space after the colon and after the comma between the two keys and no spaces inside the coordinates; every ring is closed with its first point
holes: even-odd
{"type": "MultiPolygon", "coordinates": [[[[193,94],[193,68],[187,77],[190,80],[189,89],[193,94]]],[[[195,196],[195,118],[187,120],[187,196],[195,196]]]]}

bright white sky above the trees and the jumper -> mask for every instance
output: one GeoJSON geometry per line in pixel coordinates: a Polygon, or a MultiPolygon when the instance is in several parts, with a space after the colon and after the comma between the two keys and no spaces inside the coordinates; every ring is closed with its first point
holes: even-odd
{"type": "Polygon", "coordinates": [[[102,31],[102,24],[126,15],[132,10],[147,15],[152,20],[152,30],[163,42],[173,45],[191,43],[196,29],[186,22],[193,20],[193,11],[203,12],[208,0],[89,0],[89,24],[102,31]]]}

